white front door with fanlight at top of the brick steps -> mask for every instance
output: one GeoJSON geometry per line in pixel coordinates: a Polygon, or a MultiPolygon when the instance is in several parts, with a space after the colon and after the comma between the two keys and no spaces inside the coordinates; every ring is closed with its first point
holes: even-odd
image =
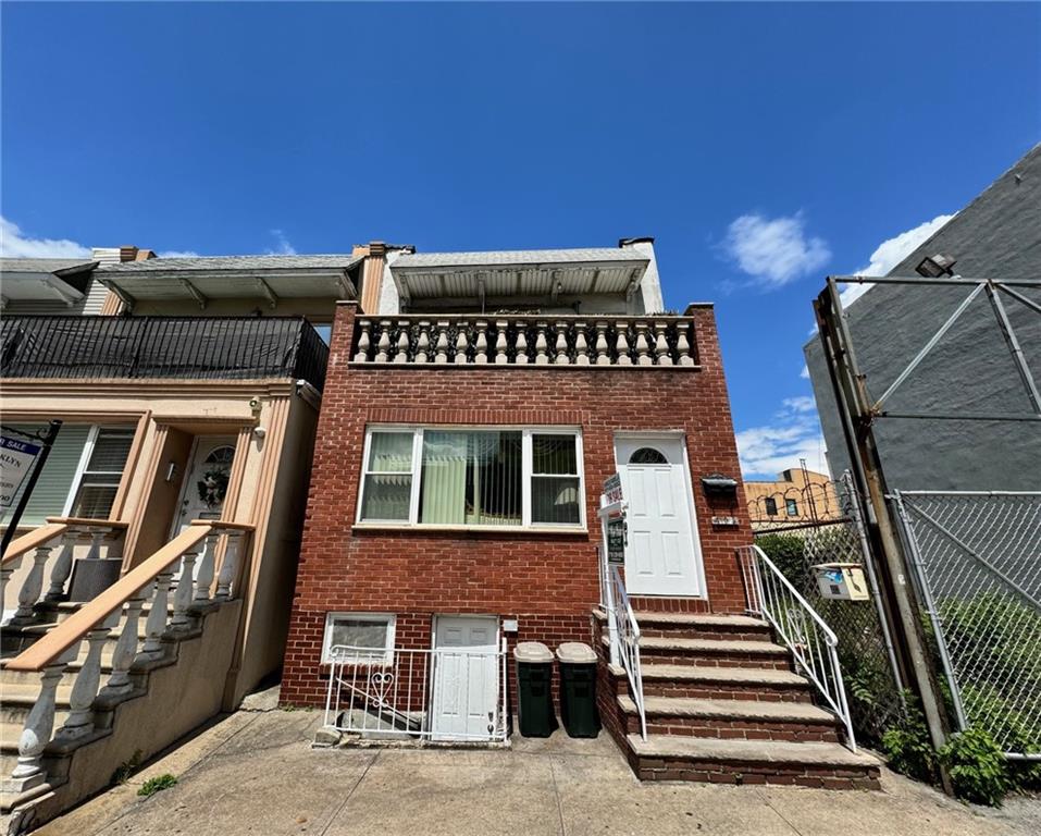
{"type": "Polygon", "coordinates": [[[631,595],[701,595],[701,548],[683,439],[615,439],[628,503],[625,589],[631,595]]]}

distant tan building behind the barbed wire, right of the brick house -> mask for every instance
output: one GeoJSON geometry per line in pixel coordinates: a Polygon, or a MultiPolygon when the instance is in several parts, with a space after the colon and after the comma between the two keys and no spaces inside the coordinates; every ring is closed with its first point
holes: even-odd
{"type": "Polygon", "coordinates": [[[774,482],[746,481],[745,499],[754,530],[827,522],[843,516],[831,477],[805,468],[789,468],[774,482]]]}

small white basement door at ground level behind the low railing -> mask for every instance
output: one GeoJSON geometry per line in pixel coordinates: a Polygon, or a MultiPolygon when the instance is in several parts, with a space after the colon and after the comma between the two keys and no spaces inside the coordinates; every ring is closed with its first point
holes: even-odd
{"type": "Polygon", "coordinates": [[[499,698],[498,618],[438,615],[434,620],[434,740],[489,739],[499,698]]]}

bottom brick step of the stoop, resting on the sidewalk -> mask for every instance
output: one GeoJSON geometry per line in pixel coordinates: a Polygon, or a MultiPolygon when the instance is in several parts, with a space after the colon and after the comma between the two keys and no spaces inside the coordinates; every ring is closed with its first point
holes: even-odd
{"type": "Polygon", "coordinates": [[[839,743],[667,735],[642,740],[633,734],[627,741],[627,757],[641,780],[879,789],[879,761],[839,743]]]}

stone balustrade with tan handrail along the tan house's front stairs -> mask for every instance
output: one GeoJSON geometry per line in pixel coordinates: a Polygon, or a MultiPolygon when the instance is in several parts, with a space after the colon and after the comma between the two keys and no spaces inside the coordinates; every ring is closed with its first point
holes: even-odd
{"type": "MultiPolygon", "coordinates": [[[[111,527],[113,524],[103,525],[111,527]]],[[[98,530],[98,521],[62,520],[45,529],[37,536],[37,551],[41,548],[49,550],[52,548],[50,543],[57,538],[67,537],[73,531],[79,537],[83,530],[89,529],[92,537],[98,530]],[[85,525],[87,522],[91,525],[85,525]]],[[[193,520],[159,551],[27,650],[7,661],[9,671],[38,674],[40,690],[18,740],[17,766],[3,782],[5,791],[23,792],[44,783],[42,755],[52,739],[73,741],[94,732],[99,698],[106,698],[107,703],[111,704],[133,694],[135,673],[147,671],[149,663],[164,659],[170,647],[164,641],[168,637],[175,638],[195,629],[208,607],[238,595],[245,570],[244,540],[251,530],[252,527],[248,525],[193,520]],[[222,538],[226,545],[223,560],[218,565],[218,546],[222,538]],[[199,566],[196,569],[197,562],[199,566]],[[144,638],[140,638],[140,619],[146,608],[148,614],[144,638]],[[102,687],[101,653],[113,630],[119,630],[119,636],[113,649],[111,672],[102,687]],[[84,642],[86,652],[80,654],[84,642]],[[79,671],[69,697],[69,715],[55,734],[58,685],[77,659],[79,671]]],[[[12,548],[29,542],[27,538],[20,538],[12,548]]],[[[12,549],[4,555],[4,568],[9,555],[13,558],[12,549]]],[[[62,573],[67,576],[67,570],[62,568],[59,571],[55,564],[52,578],[62,573]]],[[[30,589],[41,586],[40,576],[32,581],[30,589]]]]}

